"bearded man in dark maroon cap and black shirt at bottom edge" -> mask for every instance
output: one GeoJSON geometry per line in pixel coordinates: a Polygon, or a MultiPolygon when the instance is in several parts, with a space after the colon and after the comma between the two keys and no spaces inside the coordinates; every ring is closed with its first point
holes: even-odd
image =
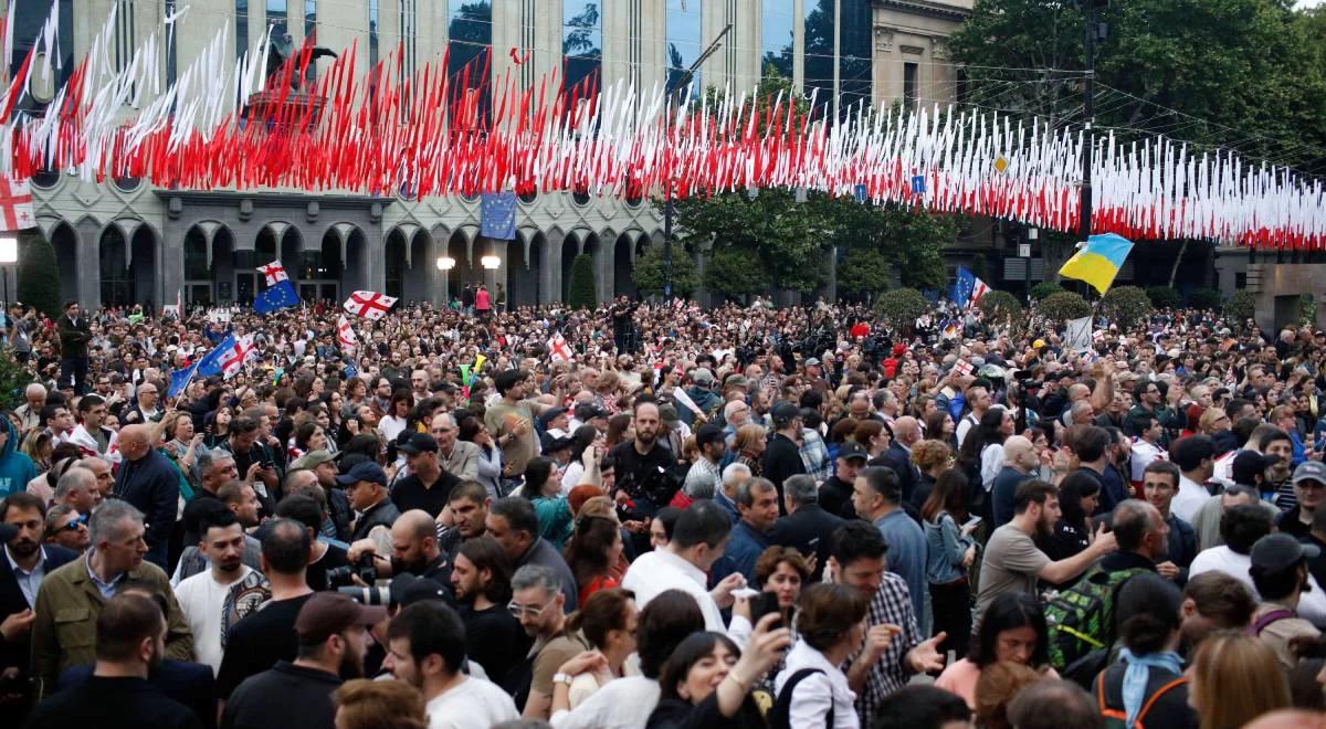
{"type": "Polygon", "coordinates": [[[369,626],[386,619],[387,608],[359,604],[349,595],[313,595],[294,620],[294,660],[245,679],[225,702],[221,726],[332,729],[332,693],[342,680],[363,676],[369,626]]]}

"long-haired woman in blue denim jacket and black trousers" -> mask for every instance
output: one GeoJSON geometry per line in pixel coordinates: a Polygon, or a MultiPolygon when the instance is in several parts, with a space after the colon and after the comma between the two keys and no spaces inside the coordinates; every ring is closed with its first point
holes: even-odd
{"type": "MultiPolygon", "coordinates": [[[[922,441],[934,443],[934,441],[922,441]]],[[[948,447],[937,443],[940,448],[948,447]]],[[[915,455],[915,451],[914,451],[915,455]]],[[[975,525],[967,521],[967,476],[951,468],[939,476],[922,504],[926,528],[926,577],[935,618],[935,632],[948,634],[955,655],[967,655],[972,635],[972,586],[967,570],[976,559],[975,525]]]]}

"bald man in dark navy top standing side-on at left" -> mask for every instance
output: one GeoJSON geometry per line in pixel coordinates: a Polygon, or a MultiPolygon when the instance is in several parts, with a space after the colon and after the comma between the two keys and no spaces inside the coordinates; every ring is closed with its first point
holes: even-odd
{"type": "Polygon", "coordinates": [[[167,549],[175,530],[179,508],[179,477],[166,456],[150,441],[146,425],[125,425],[119,429],[119,452],[125,460],[115,475],[115,497],[133,504],[143,513],[147,528],[143,539],[152,565],[166,570],[167,549]]]}

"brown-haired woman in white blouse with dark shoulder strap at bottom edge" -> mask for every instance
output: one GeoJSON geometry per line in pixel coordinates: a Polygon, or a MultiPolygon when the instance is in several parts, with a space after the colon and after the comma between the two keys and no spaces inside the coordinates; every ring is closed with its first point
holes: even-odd
{"type": "Polygon", "coordinates": [[[812,585],[801,592],[797,632],[801,640],[788,652],[774,680],[774,709],[788,706],[789,726],[857,729],[857,695],[839,665],[866,636],[869,603],[846,585],[812,585]]]}

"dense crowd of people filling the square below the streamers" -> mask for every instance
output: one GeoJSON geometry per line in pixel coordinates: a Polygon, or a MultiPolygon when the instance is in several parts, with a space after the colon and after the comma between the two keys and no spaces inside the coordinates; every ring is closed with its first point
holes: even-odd
{"type": "Polygon", "coordinates": [[[9,308],[5,724],[1326,724],[1321,331],[338,314],[9,308]]]}

